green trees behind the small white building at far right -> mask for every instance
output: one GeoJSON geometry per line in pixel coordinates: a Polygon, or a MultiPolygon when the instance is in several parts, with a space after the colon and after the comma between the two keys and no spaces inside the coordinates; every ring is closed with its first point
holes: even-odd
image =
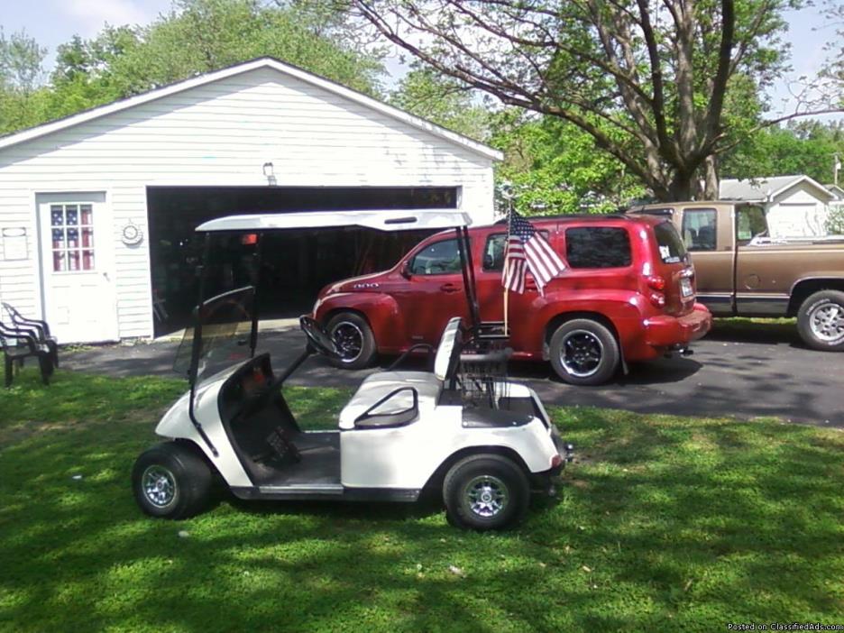
{"type": "Polygon", "coordinates": [[[751,134],[721,158],[722,178],[805,174],[832,182],[834,155],[844,156],[844,122],[802,121],[751,134]]]}

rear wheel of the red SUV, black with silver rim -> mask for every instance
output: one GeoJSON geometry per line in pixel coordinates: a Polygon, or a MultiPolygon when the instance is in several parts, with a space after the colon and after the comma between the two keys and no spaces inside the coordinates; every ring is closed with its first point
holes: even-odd
{"type": "Polygon", "coordinates": [[[576,318],[559,326],[551,337],[551,366],[573,385],[601,385],[619,368],[619,344],[606,326],[576,318]]]}

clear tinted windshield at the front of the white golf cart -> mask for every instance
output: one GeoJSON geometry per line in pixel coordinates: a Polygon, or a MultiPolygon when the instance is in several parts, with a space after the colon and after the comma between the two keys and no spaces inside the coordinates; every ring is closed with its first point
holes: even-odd
{"type": "Polygon", "coordinates": [[[229,290],[194,308],[194,325],[185,330],[174,369],[187,373],[191,386],[238,362],[252,358],[256,341],[255,289],[229,290]]]}

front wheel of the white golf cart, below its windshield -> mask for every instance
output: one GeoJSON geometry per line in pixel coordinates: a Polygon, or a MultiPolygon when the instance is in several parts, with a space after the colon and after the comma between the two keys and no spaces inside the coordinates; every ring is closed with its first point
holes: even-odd
{"type": "Polygon", "coordinates": [[[151,517],[188,518],[206,508],[211,469],[189,446],[167,442],[138,457],[132,488],[138,505],[151,517]]]}

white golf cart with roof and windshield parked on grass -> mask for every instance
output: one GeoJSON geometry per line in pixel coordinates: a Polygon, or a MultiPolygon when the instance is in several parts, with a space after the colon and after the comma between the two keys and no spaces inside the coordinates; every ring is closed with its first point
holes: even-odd
{"type": "Polygon", "coordinates": [[[533,390],[501,379],[507,350],[484,342],[477,320],[468,224],[468,216],[454,210],[425,210],[230,216],[197,227],[206,237],[206,257],[213,237],[236,233],[257,243],[259,260],[261,236],[271,231],[454,228],[474,323],[463,326],[459,317],[448,323],[433,372],[394,369],[403,356],[362,382],[336,430],[303,431],[282,387],[311,354],[338,356],[334,341],[301,317],[305,350],[277,375],[269,354],[254,355],[254,287],[206,300],[200,290],[195,326],[182,344],[183,352],[189,348],[190,390],[155,429],[170,441],[134,464],[133,491],[143,511],[166,518],[196,514],[218,476],[241,499],[415,501],[433,488],[442,491],[454,524],[494,529],[524,514],[532,490],[553,491],[552,478],[571,459],[572,446],[560,439],[533,390]]]}

